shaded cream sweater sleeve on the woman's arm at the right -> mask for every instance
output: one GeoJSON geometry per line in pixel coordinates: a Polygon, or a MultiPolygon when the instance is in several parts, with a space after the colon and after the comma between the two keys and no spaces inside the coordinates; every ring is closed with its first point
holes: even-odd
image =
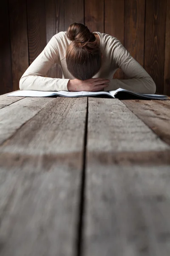
{"type": "Polygon", "coordinates": [[[121,68],[129,79],[111,79],[106,90],[122,88],[138,93],[155,93],[156,85],[153,79],[123,47],[121,42],[109,36],[108,45],[111,49],[112,66],[121,68]]]}

